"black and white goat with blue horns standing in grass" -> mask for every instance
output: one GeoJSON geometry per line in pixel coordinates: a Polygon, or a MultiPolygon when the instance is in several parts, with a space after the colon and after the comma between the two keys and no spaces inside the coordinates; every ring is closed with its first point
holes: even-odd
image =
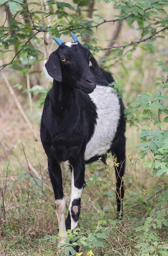
{"type": "Polygon", "coordinates": [[[113,77],[99,68],[89,49],[71,33],[74,43],[59,45],[49,56],[46,70],[54,79],[44,103],[41,120],[41,140],[48,157],[48,167],[55,195],[60,243],[67,229],[77,227],[80,201],[85,186],[85,163],[90,163],[111,151],[117,157],[117,212],[122,213],[125,167],[124,106],[113,87],[113,77]],[[92,67],[89,67],[91,61],[92,67]],[[69,161],[72,167],[72,190],[69,214],[64,219],[65,200],[60,163],[69,161]]]}

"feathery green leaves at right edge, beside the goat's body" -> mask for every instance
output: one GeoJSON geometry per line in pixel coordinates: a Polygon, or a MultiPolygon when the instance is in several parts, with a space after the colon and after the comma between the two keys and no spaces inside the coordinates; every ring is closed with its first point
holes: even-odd
{"type": "Polygon", "coordinates": [[[128,114],[128,122],[132,126],[139,123],[141,143],[136,150],[139,156],[148,158],[144,162],[145,168],[153,168],[153,175],[168,175],[168,79],[157,79],[156,95],[150,92],[142,92],[134,102],[134,106],[128,103],[125,113],[128,114]]]}

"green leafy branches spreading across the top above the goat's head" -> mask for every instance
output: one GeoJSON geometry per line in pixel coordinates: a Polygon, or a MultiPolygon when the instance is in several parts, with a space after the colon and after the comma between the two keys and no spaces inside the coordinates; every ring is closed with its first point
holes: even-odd
{"type": "MultiPolygon", "coordinates": [[[[100,2],[100,1],[97,1],[100,2]]],[[[11,65],[14,60],[23,53],[34,58],[44,58],[44,54],[39,50],[39,45],[48,45],[46,40],[47,33],[56,37],[61,37],[61,34],[69,35],[71,31],[80,34],[86,45],[90,45],[94,51],[100,51],[104,47],[97,44],[97,39],[93,37],[95,28],[99,29],[106,22],[123,22],[126,20],[129,26],[134,22],[138,24],[140,38],[134,42],[124,42],[123,45],[111,46],[114,49],[113,54],[116,58],[123,58],[123,50],[132,46],[128,53],[129,58],[139,43],[144,50],[152,52],[154,46],[151,43],[144,43],[151,39],[154,43],[157,38],[164,38],[166,29],[168,29],[168,14],[165,7],[168,7],[167,0],[112,0],[105,1],[106,3],[113,2],[114,8],[120,10],[120,15],[113,20],[104,20],[99,16],[97,20],[87,19],[85,15],[86,9],[83,6],[88,6],[90,1],[73,1],[72,4],[58,2],[55,0],[46,1],[46,7],[40,8],[40,3],[23,1],[23,0],[0,0],[2,8],[9,7],[7,18],[0,27],[0,52],[5,60],[8,51],[13,51],[14,56],[8,62],[4,61],[1,70],[6,65],[11,65]],[[91,42],[87,43],[85,35],[91,36],[91,42]],[[93,46],[94,44],[94,46],[93,46]],[[14,48],[13,48],[13,47],[14,48]]],[[[17,65],[20,66],[17,61],[17,65]]],[[[12,66],[12,68],[15,68],[12,66]]],[[[29,63],[27,64],[29,69],[29,63]]]]}

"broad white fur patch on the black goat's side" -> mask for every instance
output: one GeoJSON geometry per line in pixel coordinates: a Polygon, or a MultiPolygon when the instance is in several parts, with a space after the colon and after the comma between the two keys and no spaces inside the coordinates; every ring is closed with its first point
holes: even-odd
{"type": "Polygon", "coordinates": [[[86,161],[96,155],[106,154],[111,148],[120,118],[119,99],[112,87],[97,85],[88,95],[97,108],[97,124],[93,136],[86,145],[86,161]]]}

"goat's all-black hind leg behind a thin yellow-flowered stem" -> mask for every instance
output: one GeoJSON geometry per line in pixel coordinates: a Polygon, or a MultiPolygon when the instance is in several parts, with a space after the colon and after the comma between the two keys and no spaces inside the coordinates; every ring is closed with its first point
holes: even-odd
{"type": "Polygon", "coordinates": [[[124,198],[124,171],[125,171],[125,136],[119,137],[117,142],[111,148],[112,154],[117,157],[117,163],[119,166],[115,166],[115,175],[116,175],[116,199],[117,199],[117,215],[118,218],[121,218],[123,215],[123,206],[122,200],[124,198]]]}

